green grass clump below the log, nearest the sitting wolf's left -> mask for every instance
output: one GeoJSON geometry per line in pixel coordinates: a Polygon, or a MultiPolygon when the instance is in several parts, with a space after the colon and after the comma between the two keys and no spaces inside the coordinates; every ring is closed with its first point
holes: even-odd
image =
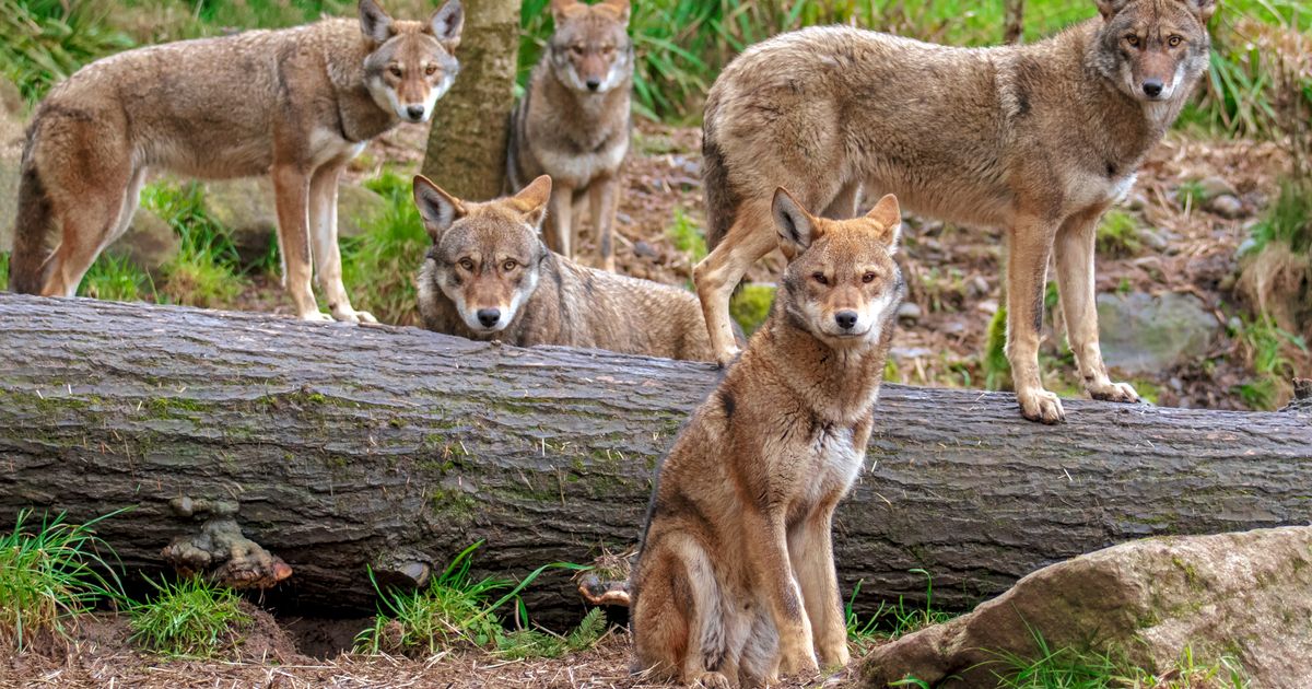
{"type": "MultiPolygon", "coordinates": [[[[514,585],[493,577],[475,580],[470,570],[474,551],[482,545],[479,541],[461,551],[421,591],[380,591],[370,571],[370,580],[379,593],[379,612],[374,625],[356,637],[356,651],[432,656],[450,648],[474,646],[516,658],[530,658],[534,654],[564,652],[564,648],[569,648],[569,637],[560,646],[548,640],[547,633],[529,631],[527,610],[520,600],[520,592],[547,570],[577,571],[586,567],[559,562],[543,564],[514,585]],[[496,614],[506,604],[514,606],[520,631],[508,633],[496,614]]],[[[573,643],[584,644],[580,648],[590,646],[600,637],[600,631],[593,635],[596,626],[596,618],[586,627],[580,626],[573,643]]]]}

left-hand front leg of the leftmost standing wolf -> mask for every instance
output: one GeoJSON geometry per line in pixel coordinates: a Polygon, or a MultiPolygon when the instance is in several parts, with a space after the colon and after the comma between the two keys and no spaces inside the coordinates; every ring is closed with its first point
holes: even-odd
{"type": "Polygon", "coordinates": [[[302,320],[332,320],[319,311],[310,289],[310,175],[295,163],[273,168],[273,194],[278,206],[278,243],[282,281],[302,320]]]}

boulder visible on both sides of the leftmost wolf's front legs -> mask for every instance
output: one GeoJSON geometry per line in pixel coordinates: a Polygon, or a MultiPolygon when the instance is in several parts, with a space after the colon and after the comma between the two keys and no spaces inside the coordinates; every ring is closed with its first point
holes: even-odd
{"type": "MultiPolygon", "coordinates": [[[[273,182],[268,177],[210,181],[205,203],[215,220],[232,230],[232,244],[243,264],[260,260],[278,231],[273,182]]],[[[387,209],[387,199],[354,184],[337,190],[337,235],[358,236],[363,226],[387,209]]]]}

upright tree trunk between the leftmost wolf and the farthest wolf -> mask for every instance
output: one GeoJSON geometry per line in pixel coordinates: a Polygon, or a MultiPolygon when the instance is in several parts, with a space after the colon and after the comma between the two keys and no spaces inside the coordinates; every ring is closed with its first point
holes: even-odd
{"type": "Polygon", "coordinates": [[[459,198],[485,201],[505,184],[506,122],[518,70],[518,0],[463,0],[461,75],[437,101],[424,175],[459,198]]]}

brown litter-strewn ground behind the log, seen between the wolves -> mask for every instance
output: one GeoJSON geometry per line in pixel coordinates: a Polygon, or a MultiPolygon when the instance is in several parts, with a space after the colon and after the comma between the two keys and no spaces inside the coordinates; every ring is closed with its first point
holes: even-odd
{"type": "MultiPolygon", "coordinates": [[[[403,173],[419,169],[426,130],[403,126],[373,144],[370,155],[352,172],[352,181],[377,175],[383,165],[403,173]]],[[[682,214],[698,228],[705,226],[701,184],[701,130],[642,122],[634,135],[625,168],[625,197],[618,222],[619,270],[635,277],[689,287],[690,256],[680,251],[669,228],[682,214]]],[[[1288,167],[1287,154],[1275,143],[1198,139],[1172,133],[1143,165],[1130,198],[1120,207],[1140,226],[1152,228],[1165,248],[1143,247],[1128,256],[1098,256],[1098,291],[1189,293],[1203,301],[1220,325],[1236,312],[1232,294],[1237,269],[1236,249],[1249,227],[1274,199],[1277,177],[1288,167]],[[1187,181],[1221,177],[1239,192],[1242,209],[1227,219],[1177,198],[1187,181]]],[[[904,319],[893,341],[900,382],[925,386],[981,387],[980,366],[988,322],[1000,301],[1002,240],[998,231],[945,226],[909,219],[899,261],[907,276],[908,299],[920,307],[914,320],[904,319]]],[[[698,230],[701,231],[701,230],[698,230]]],[[[584,255],[593,251],[584,240],[584,255]]],[[[748,274],[753,282],[771,282],[782,266],[774,255],[748,274]]],[[[1050,270],[1050,277],[1052,276],[1050,270]]],[[[279,302],[273,281],[257,293],[261,306],[279,302]]],[[[282,299],[285,301],[285,299],[282,299]]],[[[1059,318],[1059,316],[1056,316],[1059,318]]],[[[1046,385],[1061,394],[1078,386],[1073,366],[1055,365],[1064,348],[1059,323],[1048,318],[1043,353],[1046,385]]],[[[1157,403],[1170,407],[1241,409],[1232,388],[1250,378],[1236,343],[1224,333],[1202,360],[1173,370],[1136,375],[1157,390],[1157,403]]],[[[1308,361],[1300,362],[1304,369],[1308,361]]]]}

